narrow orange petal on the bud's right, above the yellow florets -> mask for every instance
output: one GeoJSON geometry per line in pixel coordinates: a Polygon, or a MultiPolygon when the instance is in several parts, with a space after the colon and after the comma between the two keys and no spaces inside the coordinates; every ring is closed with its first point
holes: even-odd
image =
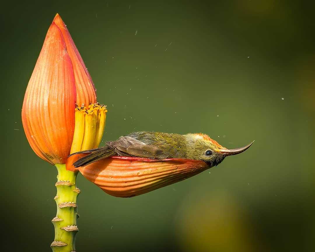
{"type": "Polygon", "coordinates": [[[62,36],[66,43],[67,52],[72,61],[75,84],[77,89],[76,102],[78,106],[81,106],[83,103],[85,106],[88,106],[89,103],[95,103],[96,93],[94,83],[76,45],[72,40],[72,37],[65,23],[62,21],[59,14],[56,14],[53,22],[59,27],[62,33],[62,36]]]}

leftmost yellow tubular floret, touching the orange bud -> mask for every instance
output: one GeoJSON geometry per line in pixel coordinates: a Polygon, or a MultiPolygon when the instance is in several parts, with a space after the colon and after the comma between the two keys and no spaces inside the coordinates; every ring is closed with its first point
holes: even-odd
{"type": "Polygon", "coordinates": [[[74,126],[74,134],[72,140],[72,146],[70,150],[70,154],[74,152],[79,152],[81,150],[81,145],[84,136],[84,117],[85,117],[85,108],[76,107],[75,109],[75,126],[74,126]]]}

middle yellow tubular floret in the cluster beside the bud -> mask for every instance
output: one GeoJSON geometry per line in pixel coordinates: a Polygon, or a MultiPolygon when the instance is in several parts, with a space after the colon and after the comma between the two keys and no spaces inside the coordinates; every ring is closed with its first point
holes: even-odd
{"type": "Polygon", "coordinates": [[[94,146],[96,132],[96,118],[93,109],[89,109],[85,114],[84,137],[81,151],[92,149],[94,146]]]}

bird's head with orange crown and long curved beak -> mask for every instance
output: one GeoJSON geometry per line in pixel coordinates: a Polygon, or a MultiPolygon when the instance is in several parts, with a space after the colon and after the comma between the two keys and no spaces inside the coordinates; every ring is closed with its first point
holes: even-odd
{"type": "Polygon", "coordinates": [[[211,139],[206,134],[187,134],[186,139],[188,143],[188,158],[202,160],[210,167],[218,165],[227,156],[242,153],[254,142],[253,141],[241,148],[229,150],[221,146],[217,141],[211,139]]]}

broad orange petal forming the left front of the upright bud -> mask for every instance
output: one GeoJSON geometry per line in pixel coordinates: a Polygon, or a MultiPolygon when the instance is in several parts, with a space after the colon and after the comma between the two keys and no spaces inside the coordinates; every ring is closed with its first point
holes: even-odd
{"type": "Polygon", "coordinates": [[[34,152],[49,163],[65,163],[74,130],[76,87],[71,59],[59,27],[49,27],[26,88],[24,131],[34,152]]]}

